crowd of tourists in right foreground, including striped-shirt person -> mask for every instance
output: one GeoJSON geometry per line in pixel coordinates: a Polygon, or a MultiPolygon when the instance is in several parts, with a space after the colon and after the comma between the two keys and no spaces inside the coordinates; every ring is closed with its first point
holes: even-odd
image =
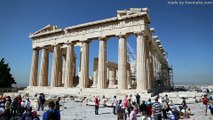
{"type": "MultiPolygon", "coordinates": [[[[137,116],[140,116],[142,120],[178,120],[190,118],[191,109],[186,104],[185,98],[183,98],[181,105],[169,104],[172,101],[168,95],[160,98],[157,96],[152,102],[151,99],[147,101],[141,100],[139,94],[135,96],[126,95],[123,100],[118,100],[116,96],[113,97],[113,114],[117,115],[118,120],[137,120],[137,116]],[[159,101],[160,99],[160,101],[159,101]]],[[[202,99],[204,113],[207,114],[207,110],[213,115],[213,102],[212,97],[207,98],[207,95],[202,99]]]]}

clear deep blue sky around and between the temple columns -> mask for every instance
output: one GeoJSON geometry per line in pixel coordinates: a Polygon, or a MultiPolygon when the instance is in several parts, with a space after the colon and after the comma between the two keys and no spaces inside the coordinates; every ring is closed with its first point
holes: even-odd
{"type": "MultiPolygon", "coordinates": [[[[169,5],[167,2],[168,0],[1,0],[0,58],[5,58],[10,64],[18,84],[28,83],[32,59],[32,41],[28,37],[30,33],[47,24],[64,28],[114,17],[117,10],[148,7],[150,27],[156,29],[155,35],[159,36],[168,52],[169,63],[174,69],[174,82],[212,84],[213,4],[169,5]]],[[[110,38],[107,42],[107,59],[117,62],[117,38],[110,38]]],[[[135,36],[130,36],[128,42],[135,49],[135,36]]],[[[93,41],[90,44],[90,74],[92,60],[98,56],[97,50],[98,42],[93,41]]],[[[76,48],[76,54],[78,53],[79,48],[76,48]]]]}

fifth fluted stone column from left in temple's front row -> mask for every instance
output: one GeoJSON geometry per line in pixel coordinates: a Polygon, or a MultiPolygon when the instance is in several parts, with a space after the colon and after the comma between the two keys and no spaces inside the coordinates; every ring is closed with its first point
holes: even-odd
{"type": "Polygon", "coordinates": [[[89,45],[87,42],[82,42],[81,75],[79,87],[87,88],[88,85],[89,85],[89,45]]]}

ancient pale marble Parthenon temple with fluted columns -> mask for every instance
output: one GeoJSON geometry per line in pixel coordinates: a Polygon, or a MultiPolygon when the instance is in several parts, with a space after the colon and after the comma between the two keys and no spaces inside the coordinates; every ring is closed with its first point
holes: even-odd
{"type": "Polygon", "coordinates": [[[154,90],[159,86],[170,86],[171,68],[168,64],[167,52],[158,36],[154,35],[155,29],[149,28],[149,24],[147,8],[130,8],[118,10],[117,16],[112,18],[64,29],[54,25],[45,26],[29,36],[32,39],[33,50],[29,87],[142,92],[154,90]],[[128,62],[127,37],[129,35],[136,36],[134,79],[132,63],[128,62]],[[107,60],[106,45],[110,37],[118,39],[117,63],[107,60]],[[89,44],[94,39],[99,42],[99,50],[97,58],[94,59],[91,77],[89,49],[92,48],[89,48],[89,44]],[[76,69],[77,59],[74,49],[76,46],[80,47],[79,69],[76,69]],[[51,73],[48,72],[51,67],[50,53],[52,53],[51,73]],[[76,70],[79,71],[78,75],[76,70]],[[76,76],[79,78],[77,84],[76,76]]]}

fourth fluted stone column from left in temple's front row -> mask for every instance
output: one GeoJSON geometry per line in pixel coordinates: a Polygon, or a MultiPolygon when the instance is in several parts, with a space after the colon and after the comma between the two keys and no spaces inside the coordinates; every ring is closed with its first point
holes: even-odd
{"type": "Polygon", "coordinates": [[[73,87],[73,47],[74,46],[72,44],[68,44],[67,46],[64,87],[73,87]]]}

